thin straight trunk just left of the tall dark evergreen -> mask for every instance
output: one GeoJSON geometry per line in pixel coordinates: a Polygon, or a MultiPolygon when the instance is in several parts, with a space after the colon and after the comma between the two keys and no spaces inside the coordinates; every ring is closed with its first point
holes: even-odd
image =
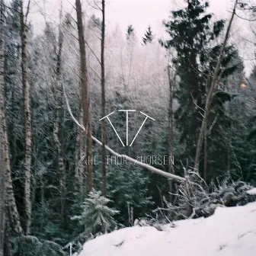
{"type": "MultiPolygon", "coordinates": [[[[171,69],[168,64],[168,82],[169,82],[169,109],[168,109],[168,146],[169,146],[169,163],[168,163],[168,171],[170,174],[174,174],[174,166],[173,166],[173,94],[174,94],[174,79],[171,78],[171,69]]],[[[169,200],[172,202],[172,187],[173,181],[171,179],[168,180],[169,187],[169,200]]]]}

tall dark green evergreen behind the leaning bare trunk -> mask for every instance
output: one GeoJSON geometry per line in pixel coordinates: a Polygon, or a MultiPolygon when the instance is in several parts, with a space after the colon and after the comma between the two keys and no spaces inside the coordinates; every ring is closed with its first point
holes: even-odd
{"type": "MultiPolygon", "coordinates": [[[[210,76],[221,49],[219,45],[212,45],[221,34],[225,24],[225,21],[220,20],[214,22],[212,26],[212,14],[206,14],[208,7],[208,2],[202,4],[198,0],[191,0],[187,8],[171,11],[171,20],[163,22],[171,38],[166,41],[160,40],[162,46],[174,50],[173,63],[179,77],[178,88],[175,92],[179,107],[174,117],[178,129],[181,130],[180,142],[184,143],[184,154],[181,156],[189,158],[191,165],[196,152],[206,93],[210,88],[210,76]]],[[[226,77],[235,71],[236,66],[230,66],[230,63],[236,55],[233,46],[226,47],[222,70],[219,72],[222,84],[225,84],[226,77]]],[[[216,98],[221,95],[221,93],[216,94],[216,98]]],[[[225,101],[229,100],[229,97],[224,98],[225,101]]],[[[222,100],[219,101],[224,104],[225,101],[222,100]]],[[[213,120],[214,118],[210,123],[213,123],[213,120]]],[[[220,120],[217,122],[219,123],[220,120]]]]}

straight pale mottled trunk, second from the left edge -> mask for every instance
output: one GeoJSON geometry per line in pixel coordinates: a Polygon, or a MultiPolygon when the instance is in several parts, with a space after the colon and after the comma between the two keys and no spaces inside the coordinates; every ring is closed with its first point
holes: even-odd
{"type": "Polygon", "coordinates": [[[22,85],[24,94],[24,203],[25,203],[25,234],[30,234],[31,226],[31,108],[30,108],[30,85],[27,76],[27,26],[24,21],[23,0],[21,0],[21,69],[22,85]]]}

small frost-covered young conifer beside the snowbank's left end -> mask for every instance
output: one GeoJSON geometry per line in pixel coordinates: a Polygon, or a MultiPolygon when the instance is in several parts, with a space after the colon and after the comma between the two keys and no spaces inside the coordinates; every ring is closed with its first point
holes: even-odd
{"type": "Polygon", "coordinates": [[[113,216],[118,211],[107,206],[110,201],[102,196],[100,191],[90,192],[89,197],[82,203],[81,215],[72,217],[72,219],[78,219],[79,225],[84,227],[83,236],[107,233],[117,227],[113,216]]]}

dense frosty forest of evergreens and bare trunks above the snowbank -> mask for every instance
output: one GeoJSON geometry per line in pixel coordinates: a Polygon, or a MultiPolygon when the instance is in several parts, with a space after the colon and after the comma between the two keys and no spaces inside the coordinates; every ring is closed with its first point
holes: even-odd
{"type": "Polygon", "coordinates": [[[107,26],[105,0],[65,1],[56,20],[43,0],[0,0],[0,255],[72,255],[255,201],[256,65],[234,37],[247,21],[253,63],[256,2],[221,20],[215,0],[182,0],[163,37],[140,38],[107,26]]]}

